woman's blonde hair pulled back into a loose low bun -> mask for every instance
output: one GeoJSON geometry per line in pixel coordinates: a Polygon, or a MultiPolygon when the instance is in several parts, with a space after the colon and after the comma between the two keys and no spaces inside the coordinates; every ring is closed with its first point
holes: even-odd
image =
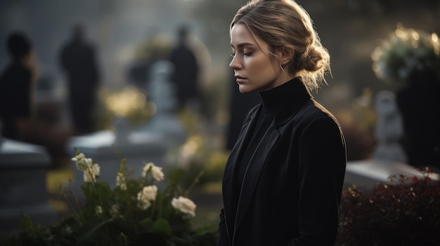
{"type": "Polygon", "coordinates": [[[246,25],[253,35],[268,43],[273,57],[277,57],[278,50],[290,50],[294,55],[287,71],[301,77],[309,90],[327,84],[324,76],[330,73],[330,55],[321,45],[309,13],[295,1],[249,1],[235,14],[230,31],[237,24],[246,25]]]}

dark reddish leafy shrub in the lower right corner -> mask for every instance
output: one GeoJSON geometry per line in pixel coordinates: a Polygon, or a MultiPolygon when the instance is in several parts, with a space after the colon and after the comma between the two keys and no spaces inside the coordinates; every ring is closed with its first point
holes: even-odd
{"type": "Polygon", "coordinates": [[[336,245],[440,245],[440,182],[420,171],[421,178],[398,175],[371,190],[345,190],[336,245]]]}

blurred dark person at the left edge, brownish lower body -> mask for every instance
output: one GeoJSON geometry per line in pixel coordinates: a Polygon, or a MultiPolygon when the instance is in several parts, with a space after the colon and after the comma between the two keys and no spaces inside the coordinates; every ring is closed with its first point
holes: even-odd
{"type": "Polygon", "coordinates": [[[58,158],[65,158],[64,144],[69,132],[37,115],[38,69],[32,42],[25,33],[12,32],[6,39],[6,49],[11,63],[0,75],[1,135],[46,146],[53,164],[58,165],[58,158]]]}

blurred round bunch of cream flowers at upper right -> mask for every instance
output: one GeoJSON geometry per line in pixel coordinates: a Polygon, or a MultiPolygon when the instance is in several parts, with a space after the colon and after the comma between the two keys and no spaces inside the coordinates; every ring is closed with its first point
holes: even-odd
{"type": "Polygon", "coordinates": [[[436,33],[406,29],[399,23],[371,54],[373,71],[384,81],[408,81],[420,72],[440,76],[440,41],[436,33]]]}

